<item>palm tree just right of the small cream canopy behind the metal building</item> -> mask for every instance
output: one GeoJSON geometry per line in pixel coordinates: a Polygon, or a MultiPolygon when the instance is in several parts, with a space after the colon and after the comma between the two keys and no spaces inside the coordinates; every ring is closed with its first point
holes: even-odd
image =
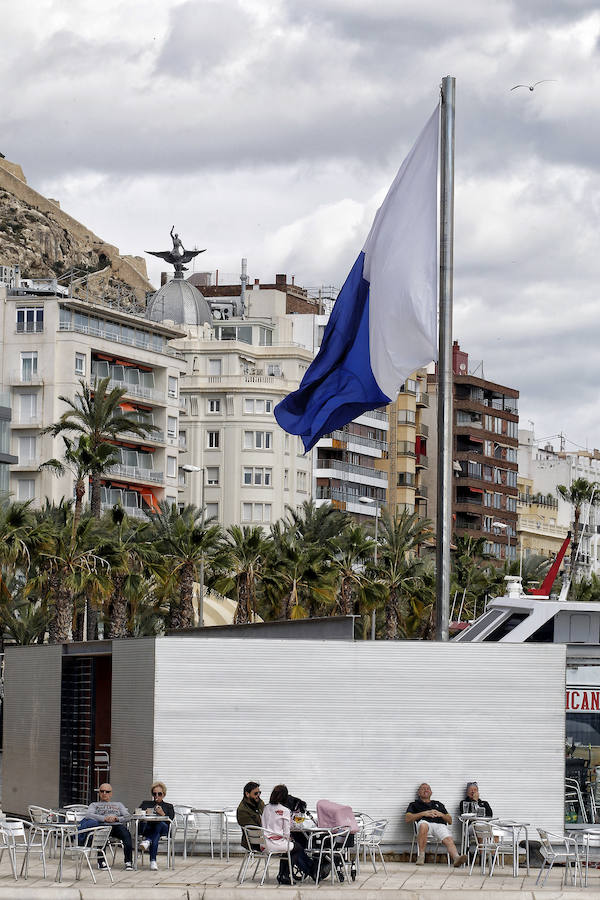
{"type": "Polygon", "coordinates": [[[231,525],[214,560],[217,577],[212,586],[221,594],[233,593],[237,607],[234,625],[254,620],[256,589],[262,580],[270,541],[258,525],[231,525]]]}

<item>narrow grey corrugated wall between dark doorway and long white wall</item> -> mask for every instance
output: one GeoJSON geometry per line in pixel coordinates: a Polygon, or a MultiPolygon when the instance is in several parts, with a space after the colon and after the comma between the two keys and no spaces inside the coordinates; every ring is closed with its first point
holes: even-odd
{"type": "Polygon", "coordinates": [[[130,810],[149,798],[153,778],[154,645],[155,638],[112,643],[110,780],[130,810]]]}

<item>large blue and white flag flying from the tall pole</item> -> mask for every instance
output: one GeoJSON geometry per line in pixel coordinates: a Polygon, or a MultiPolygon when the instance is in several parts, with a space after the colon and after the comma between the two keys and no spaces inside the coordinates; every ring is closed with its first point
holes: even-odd
{"type": "Polygon", "coordinates": [[[402,163],[334,304],[321,348],[275,418],[310,450],[395,399],[437,358],[439,106],[402,163]]]}

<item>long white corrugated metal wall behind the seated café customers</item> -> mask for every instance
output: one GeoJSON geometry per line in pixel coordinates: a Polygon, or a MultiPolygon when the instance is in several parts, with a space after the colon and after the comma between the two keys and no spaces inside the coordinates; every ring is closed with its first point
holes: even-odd
{"type": "Polygon", "coordinates": [[[496,815],[564,824],[560,645],[159,638],[155,722],[173,803],[285,782],[390,819],[398,845],[420,782],[455,814],[477,780],[496,815]]]}

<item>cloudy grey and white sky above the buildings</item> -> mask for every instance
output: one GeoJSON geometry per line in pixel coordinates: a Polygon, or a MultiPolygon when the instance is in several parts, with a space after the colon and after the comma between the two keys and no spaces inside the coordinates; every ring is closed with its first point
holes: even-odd
{"type": "MultiPolygon", "coordinates": [[[[457,79],[454,336],[600,447],[594,0],[7,0],[0,151],[122,253],[341,286],[457,79]],[[518,83],[554,79],[535,91],[518,83]]],[[[158,282],[160,262],[148,258],[158,282]]]]}

